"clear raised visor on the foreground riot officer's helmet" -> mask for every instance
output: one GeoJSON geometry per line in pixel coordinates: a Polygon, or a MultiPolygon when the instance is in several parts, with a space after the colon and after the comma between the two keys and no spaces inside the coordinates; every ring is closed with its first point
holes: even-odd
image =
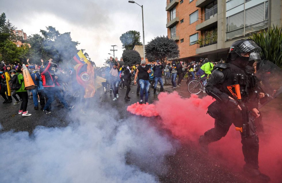
{"type": "Polygon", "coordinates": [[[261,52],[262,48],[256,42],[254,42],[254,40],[246,39],[243,42],[241,42],[238,46],[236,46],[234,48],[234,51],[239,56],[242,56],[246,53],[261,52]]]}

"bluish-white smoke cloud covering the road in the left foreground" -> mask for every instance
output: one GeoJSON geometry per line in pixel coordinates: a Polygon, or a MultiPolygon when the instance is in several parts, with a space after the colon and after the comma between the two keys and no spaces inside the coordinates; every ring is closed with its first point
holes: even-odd
{"type": "Polygon", "coordinates": [[[79,114],[67,127],[37,127],[31,136],[1,133],[0,182],[158,182],[177,143],[145,119],[117,115],[79,114]]]}

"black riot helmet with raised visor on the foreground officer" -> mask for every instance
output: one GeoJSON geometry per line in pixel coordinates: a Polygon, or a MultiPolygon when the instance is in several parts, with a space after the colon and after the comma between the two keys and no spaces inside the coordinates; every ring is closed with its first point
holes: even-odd
{"type": "Polygon", "coordinates": [[[258,53],[261,52],[262,48],[254,42],[252,39],[238,40],[235,41],[229,50],[229,54],[226,59],[226,63],[235,60],[237,57],[242,57],[246,53],[258,53]]]}

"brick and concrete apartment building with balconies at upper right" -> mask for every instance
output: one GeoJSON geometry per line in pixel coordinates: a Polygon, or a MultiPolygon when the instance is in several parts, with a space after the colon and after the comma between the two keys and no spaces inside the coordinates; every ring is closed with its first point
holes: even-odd
{"type": "Polygon", "coordinates": [[[225,59],[236,40],[282,24],[281,0],[168,0],[166,11],[184,61],[225,59]]]}

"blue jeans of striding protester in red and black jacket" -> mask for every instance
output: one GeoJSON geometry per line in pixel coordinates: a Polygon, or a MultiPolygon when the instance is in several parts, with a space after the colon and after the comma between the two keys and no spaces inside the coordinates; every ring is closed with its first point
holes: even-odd
{"type": "Polygon", "coordinates": [[[56,95],[56,97],[60,100],[60,102],[62,102],[62,104],[64,105],[65,108],[68,108],[68,104],[64,100],[64,97],[61,94],[59,88],[57,88],[57,87],[44,87],[44,92],[48,97],[48,101],[46,102],[43,110],[48,109],[49,106],[52,104],[52,102],[54,101],[54,95],[56,95]]]}

